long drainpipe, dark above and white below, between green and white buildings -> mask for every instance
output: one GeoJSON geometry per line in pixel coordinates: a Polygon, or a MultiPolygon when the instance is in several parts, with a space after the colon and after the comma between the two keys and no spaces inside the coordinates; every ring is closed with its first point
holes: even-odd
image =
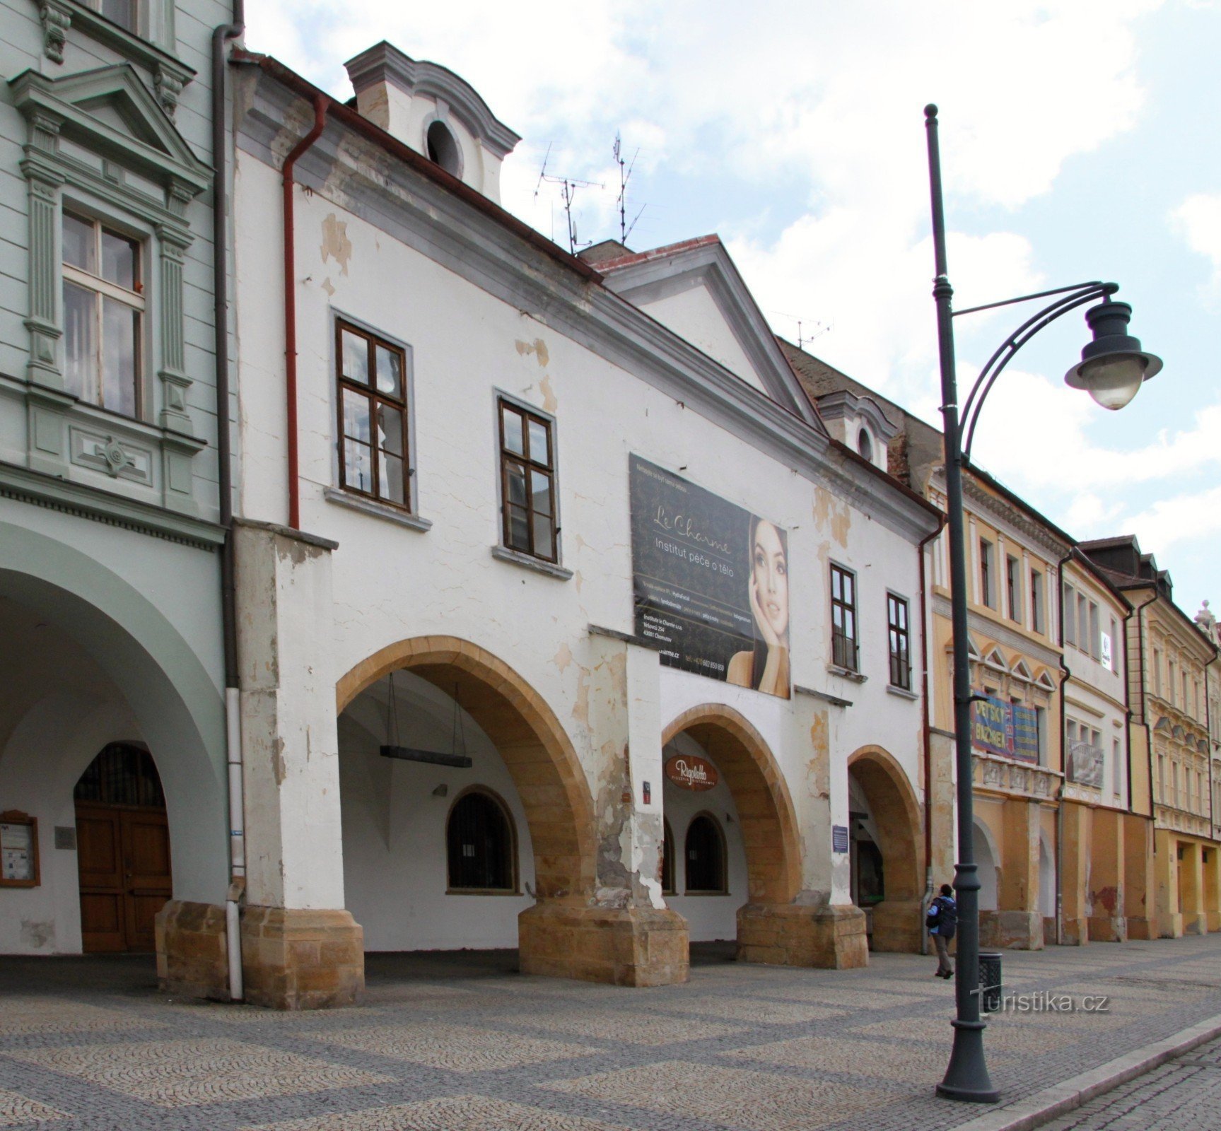
{"type": "Polygon", "coordinates": [[[225,49],[245,31],[244,0],[233,2],[233,22],[212,29],[212,331],[216,362],[216,458],[220,520],[225,528],[221,550],[221,630],[225,645],[225,749],[228,762],[230,887],[225,896],[225,942],[228,954],[230,999],[241,1002],[241,900],[245,892],[245,800],[242,789],[242,716],[238,691],[237,614],[233,550],[233,451],[230,435],[228,358],[228,186],[226,183],[226,66],[225,49]]]}

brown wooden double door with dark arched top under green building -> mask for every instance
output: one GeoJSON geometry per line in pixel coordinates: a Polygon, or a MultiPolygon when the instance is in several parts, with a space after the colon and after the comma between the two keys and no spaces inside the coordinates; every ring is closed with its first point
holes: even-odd
{"type": "Polygon", "coordinates": [[[154,921],[173,892],[165,794],[153,756],[111,743],[73,790],[81,944],[96,951],[151,951],[154,921]]]}

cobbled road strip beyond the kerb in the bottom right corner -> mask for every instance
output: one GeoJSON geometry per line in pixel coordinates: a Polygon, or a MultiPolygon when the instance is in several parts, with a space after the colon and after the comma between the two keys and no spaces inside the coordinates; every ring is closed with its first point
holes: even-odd
{"type": "Polygon", "coordinates": [[[1216,1131],[1221,1127],[1221,1038],[1044,1126],[1048,1131],[1216,1131]]]}

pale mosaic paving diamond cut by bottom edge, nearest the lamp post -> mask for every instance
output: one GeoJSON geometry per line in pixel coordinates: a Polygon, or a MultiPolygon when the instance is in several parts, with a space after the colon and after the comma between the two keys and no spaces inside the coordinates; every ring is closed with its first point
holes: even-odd
{"type": "Polygon", "coordinates": [[[543,1085],[590,1099],[653,1111],[695,1115],[745,1131],[824,1127],[845,1116],[895,1102],[895,1096],[851,1085],[795,1080],[750,1069],[665,1060],[543,1085]]]}

